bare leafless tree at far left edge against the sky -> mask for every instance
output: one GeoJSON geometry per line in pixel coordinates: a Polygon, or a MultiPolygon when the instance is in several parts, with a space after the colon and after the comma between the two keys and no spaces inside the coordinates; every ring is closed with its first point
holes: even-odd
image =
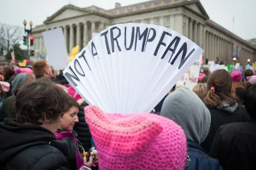
{"type": "Polygon", "coordinates": [[[0,48],[7,53],[13,46],[19,43],[23,38],[23,29],[20,26],[10,26],[0,23],[0,48]]]}

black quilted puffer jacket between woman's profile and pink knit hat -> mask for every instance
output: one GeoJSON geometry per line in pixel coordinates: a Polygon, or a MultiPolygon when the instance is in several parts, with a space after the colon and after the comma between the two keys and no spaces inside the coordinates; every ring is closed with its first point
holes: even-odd
{"type": "Polygon", "coordinates": [[[89,150],[91,147],[91,138],[92,135],[90,133],[88,124],[85,122],[85,117],[84,117],[84,107],[88,106],[86,102],[84,102],[80,107],[79,107],[79,112],[77,114],[79,122],[76,123],[74,130],[78,134],[78,140],[82,143],[84,150],[89,150]]]}

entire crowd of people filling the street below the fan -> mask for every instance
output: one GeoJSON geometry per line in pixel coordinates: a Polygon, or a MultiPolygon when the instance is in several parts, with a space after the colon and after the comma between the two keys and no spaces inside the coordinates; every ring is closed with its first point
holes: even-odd
{"type": "Polygon", "coordinates": [[[256,75],[202,68],[151,113],[88,106],[45,60],[0,66],[1,170],[256,169],[256,75]]]}

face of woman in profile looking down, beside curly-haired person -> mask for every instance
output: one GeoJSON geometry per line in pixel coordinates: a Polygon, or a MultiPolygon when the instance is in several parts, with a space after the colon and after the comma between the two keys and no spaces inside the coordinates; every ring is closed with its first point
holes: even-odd
{"type": "Polygon", "coordinates": [[[72,131],[76,122],[78,122],[78,107],[71,107],[67,112],[61,117],[61,123],[59,129],[64,131],[72,131]]]}

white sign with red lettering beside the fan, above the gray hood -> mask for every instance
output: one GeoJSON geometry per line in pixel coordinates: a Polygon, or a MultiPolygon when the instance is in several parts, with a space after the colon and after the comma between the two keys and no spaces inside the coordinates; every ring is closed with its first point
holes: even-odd
{"type": "Polygon", "coordinates": [[[201,55],[195,63],[190,67],[189,71],[186,72],[180,80],[177,82],[175,88],[179,87],[188,87],[189,89],[193,89],[193,87],[198,83],[198,77],[200,72],[200,61],[203,55],[201,55]]]}

